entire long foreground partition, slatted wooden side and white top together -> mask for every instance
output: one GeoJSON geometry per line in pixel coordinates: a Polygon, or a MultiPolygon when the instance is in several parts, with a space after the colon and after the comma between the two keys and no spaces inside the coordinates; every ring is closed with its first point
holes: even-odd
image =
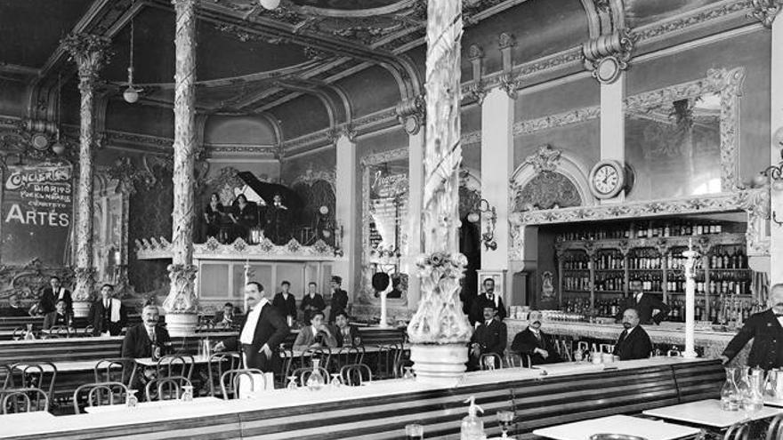
{"type": "Polygon", "coordinates": [[[111,439],[398,439],[408,423],[424,425],[427,439],[459,436],[464,400],[485,410],[488,436],[497,436],[496,412],[511,410],[512,434],[535,428],[632,414],[650,408],[715,398],[724,379],[714,360],[652,358],[601,365],[563,364],[542,370],[471,372],[453,388],[416,380],[379,380],[359,388],[276,389],[250,400],[168,406],[155,411],[78,414],[46,424],[16,424],[0,438],[111,439]]]}

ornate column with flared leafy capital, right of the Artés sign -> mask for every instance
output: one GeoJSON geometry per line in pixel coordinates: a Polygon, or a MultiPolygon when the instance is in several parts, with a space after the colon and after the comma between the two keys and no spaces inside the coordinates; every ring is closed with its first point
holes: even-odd
{"type": "Polygon", "coordinates": [[[95,82],[108,59],[108,38],[71,34],[63,47],[77,63],[79,73],[79,184],[77,197],[77,268],[73,292],[74,316],[87,316],[95,284],[93,267],[93,143],[95,123],[95,82]]]}

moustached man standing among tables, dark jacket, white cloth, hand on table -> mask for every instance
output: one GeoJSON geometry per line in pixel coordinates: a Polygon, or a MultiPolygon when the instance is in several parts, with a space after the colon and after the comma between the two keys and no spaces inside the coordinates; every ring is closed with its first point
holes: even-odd
{"type": "Polygon", "coordinates": [[[239,339],[223,340],[215,346],[216,351],[241,348],[246,368],[258,368],[262,372],[278,370],[278,347],[286,340],[290,328],[277,308],[264,298],[263,286],[251,281],[245,286],[245,299],[251,311],[247,313],[245,325],[239,339]]]}

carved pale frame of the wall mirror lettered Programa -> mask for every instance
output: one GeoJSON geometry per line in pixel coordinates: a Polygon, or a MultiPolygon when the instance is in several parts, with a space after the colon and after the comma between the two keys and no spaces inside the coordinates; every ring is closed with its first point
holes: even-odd
{"type": "MultiPolygon", "coordinates": [[[[370,221],[372,216],[370,215],[370,168],[375,165],[386,164],[401,159],[408,159],[408,148],[397,148],[381,153],[375,153],[367,155],[361,158],[359,164],[361,165],[361,287],[360,287],[360,300],[367,304],[380,304],[379,299],[375,299],[374,291],[372,288],[372,256],[370,254],[370,221]]],[[[408,225],[409,221],[405,224],[408,225]]],[[[400,252],[403,254],[403,258],[400,258],[400,272],[405,273],[402,263],[408,248],[406,236],[408,234],[408,228],[403,229],[400,236],[400,252]]],[[[409,276],[409,274],[408,274],[409,276]]],[[[408,304],[408,289],[402,291],[402,296],[399,299],[389,299],[390,306],[404,306],[408,304]]]]}

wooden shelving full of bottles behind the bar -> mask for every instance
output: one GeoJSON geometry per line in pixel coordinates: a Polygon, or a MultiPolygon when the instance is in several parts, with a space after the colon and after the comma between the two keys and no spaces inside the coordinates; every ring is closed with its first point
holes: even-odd
{"type": "Polygon", "coordinates": [[[574,230],[555,236],[561,308],[617,315],[628,283],[662,295],[668,320],[684,320],[685,258],[689,242],[696,264],[696,318],[718,321],[727,314],[747,319],[755,312],[744,231],[721,222],[651,220],[574,230]]]}

